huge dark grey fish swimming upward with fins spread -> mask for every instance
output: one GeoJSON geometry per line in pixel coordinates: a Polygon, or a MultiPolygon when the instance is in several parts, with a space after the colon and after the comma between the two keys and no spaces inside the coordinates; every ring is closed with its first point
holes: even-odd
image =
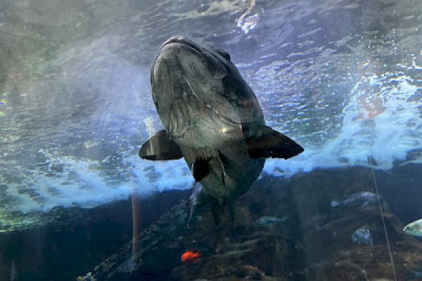
{"type": "Polygon", "coordinates": [[[155,59],[151,87],[165,129],[143,143],[139,156],[184,157],[196,183],[203,186],[201,197],[214,201],[217,224],[222,207],[248,190],[265,158],[288,159],[303,151],[265,126],[255,93],[229,53],[219,48],[171,37],[155,59]]]}

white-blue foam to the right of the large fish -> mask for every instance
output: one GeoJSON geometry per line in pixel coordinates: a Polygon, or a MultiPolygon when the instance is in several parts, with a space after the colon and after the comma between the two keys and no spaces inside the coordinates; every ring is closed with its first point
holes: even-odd
{"type": "Polygon", "coordinates": [[[337,136],[320,147],[301,143],[305,152],[288,160],[269,159],[264,171],[291,176],[317,168],[369,166],[369,156],[375,160],[376,169],[391,169],[396,161],[405,160],[409,151],[422,150],[421,86],[412,81],[402,73],[362,77],[343,108],[343,124],[337,136]]]}

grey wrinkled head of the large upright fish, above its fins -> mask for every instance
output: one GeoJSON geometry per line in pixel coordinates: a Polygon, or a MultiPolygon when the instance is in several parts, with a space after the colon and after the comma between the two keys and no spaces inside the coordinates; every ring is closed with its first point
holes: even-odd
{"type": "Polygon", "coordinates": [[[172,136],[186,131],[187,120],[198,120],[198,127],[208,130],[255,122],[257,116],[263,120],[255,93],[229,53],[186,37],[162,44],[151,69],[151,88],[158,115],[172,136]]]}

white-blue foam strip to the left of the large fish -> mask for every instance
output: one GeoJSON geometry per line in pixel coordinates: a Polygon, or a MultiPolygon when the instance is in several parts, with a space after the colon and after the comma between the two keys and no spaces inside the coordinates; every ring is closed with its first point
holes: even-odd
{"type": "Polygon", "coordinates": [[[103,175],[100,162],[75,157],[53,157],[49,152],[41,152],[49,157],[51,166],[60,165],[64,168],[54,176],[49,175],[51,171],[37,171],[20,184],[8,185],[6,194],[18,200],[18,204],[14,205],[15,210],[23,213],[49,211],[58,206],[91,208],[113,200],[127,199],[132,188],[139,195],[146,196],[155,191],[190,188],[193,181],[191,175],[186,174],[184,161],[151,163],[136,159],[137,156],[125,159],[134,164],[133,176],[126,181],[115,181],[103,175]],[[149,170],[145,169],[148,166],[153,166],[155,173],[160,176],[158,181],[147,175],[149,170]],[[38,195],[31,197],[27,192],[20,192],[23,189],[34,190],[38,195]]]}

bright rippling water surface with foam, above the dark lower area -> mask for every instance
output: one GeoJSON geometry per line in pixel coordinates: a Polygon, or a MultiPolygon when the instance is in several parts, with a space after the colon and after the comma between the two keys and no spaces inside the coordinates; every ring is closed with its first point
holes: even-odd
{"type": "Polygon", "coordinates": [[[422,4],[403,1],[6,0],[0,3],[0,231],[54,207],[186,189],[184,161],[142,162],[161,128],[149,71],[185,35],[231,54],[267,124],[305,152],[291,176],[422,163],[422,4]],[[171,181],[169,180],[171,178],[171,181]]]}

